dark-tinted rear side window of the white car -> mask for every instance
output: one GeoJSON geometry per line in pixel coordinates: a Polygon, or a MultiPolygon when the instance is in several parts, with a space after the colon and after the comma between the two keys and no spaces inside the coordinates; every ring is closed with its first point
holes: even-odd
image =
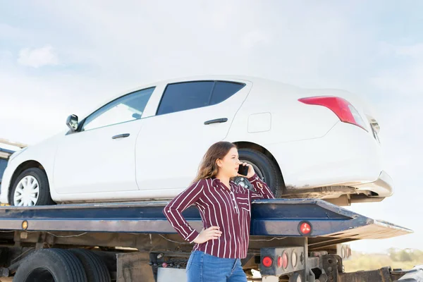
{"type": "Polygon", "coordinates": [[[219,104],[243,88],[245,84],[226,81],[192,81],[169,84],[157,115],[197,109],[219,104]]]}

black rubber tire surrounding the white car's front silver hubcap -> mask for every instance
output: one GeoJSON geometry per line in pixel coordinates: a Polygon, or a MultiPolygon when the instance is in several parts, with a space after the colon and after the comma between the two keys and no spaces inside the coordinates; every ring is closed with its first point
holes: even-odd
{"type": "Polygon", "coordinates": [[[32,177],[35,178],[38,182],[38,198],[37,202],[35,203],[35,206],[42,206],[42,205],[49,205],[49,204],[55,204],[53,200],[51,200],[50,195],[50,186],[49,186],[49,180],[47,178],[47,175],[44,171],[42,171],[40,168],[28,168],[16,179],[15,183],[13,183],[13,189],[11,190],[9,202],[12,206],[17,206],[18,203],[15,202],[15,192],[18,188],[18,184],[20,183],[20,180],[23,180],[23,178],[26,177],[32,177]]]}

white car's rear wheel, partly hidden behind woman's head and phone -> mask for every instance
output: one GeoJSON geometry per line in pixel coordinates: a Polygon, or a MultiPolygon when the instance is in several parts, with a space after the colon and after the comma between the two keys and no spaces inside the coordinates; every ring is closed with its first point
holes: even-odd
{"type": "MultiPolygon", "coordinates": [[[[283,195],[285,183],[283,183],[282,175],[274,161],[271,161],[265,154],[254,149],[238,149],[238,154],[240,161],[252,165],[257,176],[269,186],[275,197],[278,198],[283,195]]],[[[244,188],[254,190],[247,178],[236,177],[235,183],[244,188]]]]}

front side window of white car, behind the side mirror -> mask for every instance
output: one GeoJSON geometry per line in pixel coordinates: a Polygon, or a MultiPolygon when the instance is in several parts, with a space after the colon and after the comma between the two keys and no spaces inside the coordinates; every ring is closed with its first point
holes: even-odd
{"type": "Polygon", "coordinates": [[[85,119],[82,130],[92,130],[140,119],[154,88],[151,87],[126,94],[102,106],[85,119]]]}

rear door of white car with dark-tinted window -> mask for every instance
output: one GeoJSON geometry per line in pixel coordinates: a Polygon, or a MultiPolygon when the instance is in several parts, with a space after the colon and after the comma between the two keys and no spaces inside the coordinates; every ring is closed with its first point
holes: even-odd
{"type": "Polygon", "coordinates": [[[137,183],[161,197],[185,188],[207,149],[223,140],[252,87],[248,81],[168,84],[136,144],[137,183]]]}

